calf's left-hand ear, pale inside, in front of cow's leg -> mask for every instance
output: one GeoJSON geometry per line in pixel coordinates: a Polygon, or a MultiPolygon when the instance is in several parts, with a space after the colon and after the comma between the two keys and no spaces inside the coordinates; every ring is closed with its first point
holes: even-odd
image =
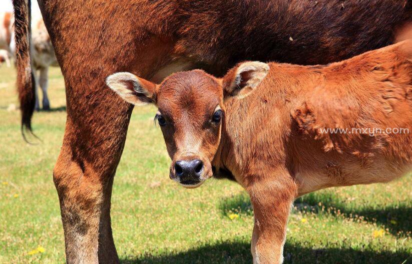
{"type": "Polygon", "coordinates": [[[130,72],[113,73],[106,78],[107,85],[125,101],[143,105],[156,100],[157,85],[130,72]]]}

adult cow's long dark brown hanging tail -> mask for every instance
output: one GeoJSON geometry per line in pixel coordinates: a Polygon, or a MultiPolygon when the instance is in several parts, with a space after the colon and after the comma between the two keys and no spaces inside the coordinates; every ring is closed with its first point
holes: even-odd
{"type": "Polygon", "coordinates": [[[32,132],[32,116],[35,109],[35,78],[32,71],[31,47],[31,0],[13,0],[15,12],[15,41],[17,61],[17,89],[22,112],[22,134],[32,132]]]}

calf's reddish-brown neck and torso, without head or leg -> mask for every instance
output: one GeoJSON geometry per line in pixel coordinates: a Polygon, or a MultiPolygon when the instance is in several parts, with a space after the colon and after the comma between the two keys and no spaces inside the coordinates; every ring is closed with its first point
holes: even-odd
{"type": "Polygon", "coordinates": [[[245,185],[285,166],[300,194],[402,175],[412,163],[411,43],[327,66],[271,63],[255,92],[226,103],[224,164],[245,185]]]}

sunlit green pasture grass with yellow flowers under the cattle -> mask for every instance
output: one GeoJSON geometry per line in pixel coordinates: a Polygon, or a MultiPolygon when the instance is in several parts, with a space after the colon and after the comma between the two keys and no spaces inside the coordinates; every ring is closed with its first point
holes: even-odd
{"type": "MultiPolygon", "coordinates": [[[[33,119],[42,139],[37,145],[25,143],[20,112],[8,109],[17,104],[14,83],[15,70],[1,67],[0,263],[63,263],[52,180],[66,120],[63,77],[51,69],[52,111],[33,119]]],[[[251,263],[253,211],[247,194],[227,180],[209,180],[192,190],[173,183],[154,114],[153,106],[135,108],[114,181],[112,227],[122,262],[251,263]],[[233,213],[239,217],[231,219],[233,213]]],[[[412,263],[411,194],[408,175],[301,197],[288,224],[285,263],[412,263]]]]}

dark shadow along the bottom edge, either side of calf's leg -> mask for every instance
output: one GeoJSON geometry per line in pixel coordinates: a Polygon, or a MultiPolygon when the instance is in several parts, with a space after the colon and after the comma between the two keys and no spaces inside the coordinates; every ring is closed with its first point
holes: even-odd
{"type": "MultiPolygon", "coordinates": [[[[344,263],[344,264],[402,264],[408,253],[401,252],[375,252],[368,249],[348,248],[323,248],[311,249],[300,244],[286,242],[284,249],[284,263],[344,263]]],[[[403,264],[409,263],[406,261],[403,264]]],[[[123,264],[242,264],[252,263],[250,245],[246,242],[221,242],[215,245],[203,245],[185,252],[172,252],[162,255],[146,254],[137,257],[121,259],[123,264]]]]}

